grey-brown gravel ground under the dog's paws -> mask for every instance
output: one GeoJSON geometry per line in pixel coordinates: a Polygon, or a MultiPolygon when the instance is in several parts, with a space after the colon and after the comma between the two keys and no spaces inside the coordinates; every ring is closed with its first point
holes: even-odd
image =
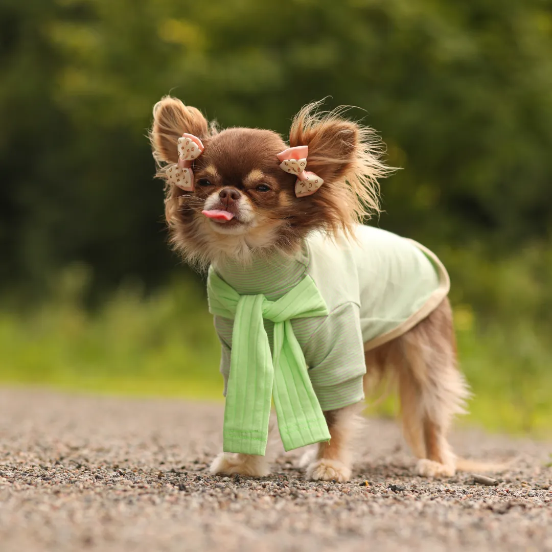
{"type": "Polygon", "coordinates": [[[453,436],[515,457],[496,486],[413,476],[395,423],[369,420],[347,484],[213,477],[222,406],[0,389],[0,550],[552,550],[552,443],[453,436]]]}

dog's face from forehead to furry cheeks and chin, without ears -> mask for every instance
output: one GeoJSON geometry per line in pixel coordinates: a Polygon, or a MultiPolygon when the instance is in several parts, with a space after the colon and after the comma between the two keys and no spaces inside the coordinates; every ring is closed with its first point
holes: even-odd
{"type": "Polygon", "coordinates": [[[166,205],[172,241],[187,260],[246,262],[253,251],[293,249],[301,205],[295,177],[279,167],[282,138],[269,130],[228,129],[203,143],[193,192],[174,188],[166,205]]]}

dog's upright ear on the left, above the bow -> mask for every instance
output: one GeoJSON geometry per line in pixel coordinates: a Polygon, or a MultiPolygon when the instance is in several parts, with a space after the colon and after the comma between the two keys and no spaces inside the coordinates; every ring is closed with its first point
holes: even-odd
{"type": "Polygon", "coordinates": [[[207,120],[199,109],[184,105],[178,98],[165,96],[153,106],[150,141],[157,163],[178,162],[177,142],[187,132],[201,140],[209,134],[207,120]]]}

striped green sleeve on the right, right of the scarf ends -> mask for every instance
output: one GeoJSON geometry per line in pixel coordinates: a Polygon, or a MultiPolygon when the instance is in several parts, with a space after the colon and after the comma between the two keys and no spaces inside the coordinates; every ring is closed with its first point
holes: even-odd
{"type": "Polygon", "coordinates": [[[366,364],[357,304],[348,302],[330,312],[304,352],[322,410],[336,410],[364,399],[366,364]]]}

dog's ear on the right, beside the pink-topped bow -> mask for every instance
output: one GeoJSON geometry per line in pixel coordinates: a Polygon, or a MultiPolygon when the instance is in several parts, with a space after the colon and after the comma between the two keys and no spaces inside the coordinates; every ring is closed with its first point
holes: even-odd
{"type": "Polygon", "coordinates": [[[325,185],[346,177],[359,143],[359,125],[336,116],[313,115],[310,105],[295,116],[289,132],[290,147],[309,146],[306,170],[320,176],[325,185]]]}

